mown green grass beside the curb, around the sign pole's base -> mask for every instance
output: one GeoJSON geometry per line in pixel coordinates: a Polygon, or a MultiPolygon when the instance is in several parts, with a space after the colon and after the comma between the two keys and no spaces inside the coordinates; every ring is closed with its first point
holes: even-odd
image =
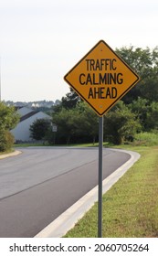
{"type": "MultiPolygon", "coordinates": [[[[123,148],[142,157],[103,196],[102,236],[158,237],[158,146],[123,148]]],[[[97,229],[96,203],[65,237],[97,237],[97,229]]]]}

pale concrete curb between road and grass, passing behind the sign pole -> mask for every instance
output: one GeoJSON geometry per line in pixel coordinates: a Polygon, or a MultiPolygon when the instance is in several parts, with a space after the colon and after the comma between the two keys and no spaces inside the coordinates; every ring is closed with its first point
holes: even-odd
{"type": "MultiPolygon", "coordinates": [[[[140,158],[136,152],[125,151],[119,149],[111,149],[112,151],[120,151],[131,155],[131,158],[121,165],[111,176],[103,180],[102,193],[107,192],[113,184],[115,184],[121,176],[140,158]]],[[[51,222],[45,229],[41,230],[35,238],[60,238],[63,237],[69,229],[81,219],[84,214],[90,210],[94,203],[98,201],[98,186],[94,187],[85,196],[81,197],[74,205],[63,212],[57,219],[51,222]]]]}

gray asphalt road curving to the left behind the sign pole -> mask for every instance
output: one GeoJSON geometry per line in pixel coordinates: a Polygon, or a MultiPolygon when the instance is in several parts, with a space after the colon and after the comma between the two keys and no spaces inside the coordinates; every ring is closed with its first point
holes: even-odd
{"type": "MultiPolygon", "coordinates": [[[[30,147],[0,160],[0,237],[34,237],[98,184],[98,148],[30,147]]],[[[103,179],[130,155],[103,150],[103,179]]]]}

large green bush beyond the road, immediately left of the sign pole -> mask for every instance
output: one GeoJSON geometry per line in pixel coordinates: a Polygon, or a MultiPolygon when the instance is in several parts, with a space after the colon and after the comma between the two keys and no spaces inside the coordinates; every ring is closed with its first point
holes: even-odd
{"type": "Polygon", "coordinates": [[[58,141],[64,143],[95,142],[98,136],[98,117],[85,103],[76,108],[62,108],[53,114],[53,123],[58,125],[58,141]]]}

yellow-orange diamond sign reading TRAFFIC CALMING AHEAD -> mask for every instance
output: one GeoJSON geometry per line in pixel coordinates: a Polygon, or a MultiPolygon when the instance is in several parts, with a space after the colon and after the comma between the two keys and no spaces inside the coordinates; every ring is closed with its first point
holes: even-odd
{"type": "Polygon", "coordinates": [[[102,116],[140,80],[103,41],[68,71],[64,80],[102,116]]]}

